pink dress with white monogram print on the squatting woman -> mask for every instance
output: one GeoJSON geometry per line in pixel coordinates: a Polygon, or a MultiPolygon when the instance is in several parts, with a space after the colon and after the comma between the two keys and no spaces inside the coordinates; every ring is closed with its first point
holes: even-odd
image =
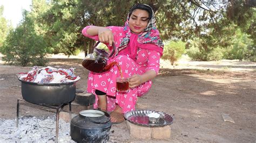
{"type": "MultiPolygon", "coordinates": [[[[90,26],[86,26],[82,30],[83,35],[85,37],[98,40],[98,35],[91,36],[86,33],[87,28],[89,27],[90,26]]],[[[114,44],[116,47],[118,47],[122,39],[125,37],[125,33],[123,31],[124,27],[110,26],[108,28],[112,30],[114,35],[114,44]]],[[[156,73],[159,71],[160,53],[143,48],[143,46],[152,44],[138,44],[137,39],[138,35],[132,34],[127,48],[119,51],[117,56],[114,56],[107,61],[107,63],[113,61],[118,62],[122,69],[123,77],[131,77],[134,74],[142,75],[150,69],[156,71],[156,73]],[[137,56],[136,58],[131,59],[129,53],[131,53],[132,49],[134,48],[137,49],[137,56]]],[[[122,108],[123,113],[135,110],[137,97],[146,94],[146,92],[150,90],[152,81],[150,80],[140,84],[136,88],[130,88],[130,91],[127,93],[122,93],[116,91],[117,77],[120,77],[117,66],[113,66],[109,71],[104,73],[93,73],[90,71],[87,81],[87,92],[92,92],[95,94],[96,89],[105,92],[107,95],[107,111],[113,111],[117,104],[120,106],[120,108],[122,108]]],[[[97,103],[98,97],[96,95],[94,108],[97,108],[97,103]]]]}

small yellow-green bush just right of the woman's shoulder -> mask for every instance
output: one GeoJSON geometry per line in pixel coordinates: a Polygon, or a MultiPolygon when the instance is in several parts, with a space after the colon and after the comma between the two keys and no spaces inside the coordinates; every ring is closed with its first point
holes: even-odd
{"type": "Polygon", "coordinates": [[[161,59],[169,60],[171,65],[174,65],[174,62],[185,53],[185,44],[185,42],[180,40],[166,42],[164,46],[164,54],[161,59]]]}

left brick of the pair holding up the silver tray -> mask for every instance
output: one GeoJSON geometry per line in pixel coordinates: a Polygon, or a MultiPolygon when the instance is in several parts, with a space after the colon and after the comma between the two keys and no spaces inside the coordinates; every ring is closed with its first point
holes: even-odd
{"type": "Polygon", "coordinates": [[[130,130],[130,137],[137,139],[151,139],[151,128],[138,126],[126,121],[127,127],[130,130]]]}

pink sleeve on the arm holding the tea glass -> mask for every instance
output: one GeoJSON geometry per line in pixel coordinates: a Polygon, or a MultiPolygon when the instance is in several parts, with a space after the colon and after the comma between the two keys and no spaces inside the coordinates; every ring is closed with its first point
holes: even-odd
{"type": "Polygon", "coordinates": [[[160,53],[149,50],[146,70],[154,70],[158,74],[160,69],[160,53]]]}

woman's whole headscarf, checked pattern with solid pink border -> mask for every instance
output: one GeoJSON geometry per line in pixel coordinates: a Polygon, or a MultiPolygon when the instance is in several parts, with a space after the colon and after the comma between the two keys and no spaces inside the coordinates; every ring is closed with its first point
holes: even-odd
{"type": "MultiPolygon", "coordinates": [[[[149,5],[147,5],[149,6],[149,5]]],[[[150,6],[149,6],[150,7],[150,6]]],[[[151,7],[150,7],[151,8],[151,7]]],[[[152,10],[152,8],[151,8],[152,10]]],[[[129,15],[127,16],[125,26],[124,26],[124,31],[126,33],[125,37],[121,41],[118,51],[121,51],[122,49],[126,48],[127,45],[130,42],[130,37],[131,37],[131,29],[129,27],[129,15]]],[[[159,37],[159,31],[157,30],[156,27],[156,19],[154,18],[154,13],[152,10],[152,17],[147,24],[147,27],[145,30],[138,35],[138,45],[137,47],[140,48],[145,48],[145,49],[150,49],[153,51],[159,52],[161,55],[163,55],[163,49],[164,49],[164,43],[159,37]],[[143,46],[140,46],[143,44],[143,46]]],[[[131,58],[134,58],[137,55],[137,47],[130,47],[131,48],[131,58]]]]}

